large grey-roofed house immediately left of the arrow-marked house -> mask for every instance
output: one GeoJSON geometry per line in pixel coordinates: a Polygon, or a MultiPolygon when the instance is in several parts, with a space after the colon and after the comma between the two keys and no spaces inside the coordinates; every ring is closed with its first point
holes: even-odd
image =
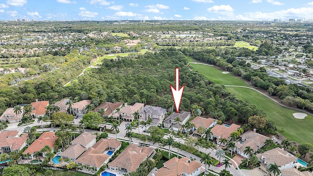
{"type": "Polygon", "coordinates": [[[152,118],[152,125],[157,126],[163,121],[164,116],[166,115],[166,110],[160,107],[146,105],[142,110],[140,110],[139,115],[139,121],[147,121],[149,118],[152,118]]]}

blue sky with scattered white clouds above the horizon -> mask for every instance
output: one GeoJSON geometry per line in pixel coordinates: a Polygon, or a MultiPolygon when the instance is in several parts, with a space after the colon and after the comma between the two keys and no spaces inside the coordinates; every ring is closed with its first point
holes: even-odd
{"type": "Polygon", "coordinates": [[[0,0],[0,20],[313,19],[313,0],[0,0]]]}

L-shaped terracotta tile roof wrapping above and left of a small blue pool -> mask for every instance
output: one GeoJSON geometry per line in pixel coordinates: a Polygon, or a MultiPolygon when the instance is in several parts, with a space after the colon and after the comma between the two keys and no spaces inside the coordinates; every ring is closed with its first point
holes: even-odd
{"type": "Polygon", "coordinates": [[[84,154],[82,154],[75,162],[86,164],[100,168],[103,163],[110,157],[103,152],[110,146],[117,148],[122,143],[115,139],[100,139],[93,147],[89,148],[84,154]]]}

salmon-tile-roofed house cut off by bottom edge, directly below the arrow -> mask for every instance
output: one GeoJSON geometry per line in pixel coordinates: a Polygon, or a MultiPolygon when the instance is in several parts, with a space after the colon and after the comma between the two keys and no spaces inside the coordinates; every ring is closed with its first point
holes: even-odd
{"type": "Polygon", "coordinates": [[[199,176],[201,174],[201,163],[191,161],[187,157],[172,159],[163,163],[163,167],[157,170],[156,176],[199,176]]]}

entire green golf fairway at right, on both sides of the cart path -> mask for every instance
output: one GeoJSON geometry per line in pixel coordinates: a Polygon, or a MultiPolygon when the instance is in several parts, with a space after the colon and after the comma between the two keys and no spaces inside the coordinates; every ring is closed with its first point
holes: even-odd
{"type": "MultiPolygon", "coordinates": [[[[230,73],[223,74],[222,70],[213,66],[197,64],[190,65],[193,66],[194,70],[198,70],[199,73],[205,75],[207,79],[213,81],[214,83],[248,87],[243,80],[231,75],[230,73]]],[[[253,89],[226,87],[226,90],[235,93],[239,99],[247,100],[256,107],[263,109],[267,113],[267,118],[275,122],[279,132],[282,128],[285,130],[285,132],[281,132],[285,137],[299,143],[309,142],[313,144],[313,138],[311,137],[311,129],[313,125],[312,115],[308,114],[305,119],[296,119],[293,117],[292,113],[300,111],[282,107],[253,89]]]]}

